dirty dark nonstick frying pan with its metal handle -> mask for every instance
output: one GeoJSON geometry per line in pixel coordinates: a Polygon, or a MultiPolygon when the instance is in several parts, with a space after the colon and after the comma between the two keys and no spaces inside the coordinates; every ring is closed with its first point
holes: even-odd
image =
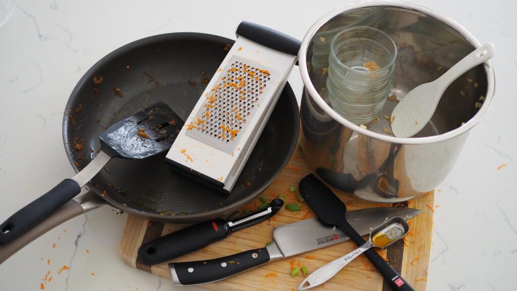
{"type": "MultiPolygon", "coordinates": [[[[233,40],[170,33],[136,40],[103,57],[73,89],[63,119],[65,150],[75,171],[100,149],[99,135],[161,101],[185,121],[233,40]],[[102,76],[95,84],[94,77],[102,76]],[[76,143],[84,144],[77,150],[76,143]]],[[[98,78],[97,78],[98,80],[98,78]]],[[[289,84],[230,195],[186,179],[165,164],[165,153],[141,160],[112,159],[75,198],[24,237],[0,245],[0,263],[53,226],[102,204],[165,223],[198,223],[229,215],[276,179],[298,139],[299,113],[289,84]],[[96,197],[95,193],[98,197],[96,197]],[[102,199],[99,199],[102,198],[102,199]]]]}

